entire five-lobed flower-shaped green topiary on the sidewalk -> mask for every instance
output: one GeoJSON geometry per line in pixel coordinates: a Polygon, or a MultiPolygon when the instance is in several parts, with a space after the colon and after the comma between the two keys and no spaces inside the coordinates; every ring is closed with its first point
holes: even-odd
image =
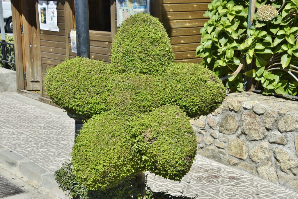
{"type": "MultiPolygon", "coordinates": [[[[83,187],[101,191],[119,187],[145,170],[180,181],[189,171],[197,148],[189,119],[218,108],[225,96],[223,84],[199,64],[174,64],[162,24],[148,14],[133,15],[122,23],[112,53],[111,67],[102,63],[99,69],[88,69],[91,65],[86,65],[80,70],[85,74],[64,74],[62,80],[53,73],[70,73],[73,67],[48,71],[47,88],[54,93],[51,98],[68,103],[58,105],[80,113],[83,111],[73,109],[80,103],[67,107],[72,104],[69,102],[92,97],[91,104],[84,101],[82,106],[90,109],[84,109],[85,115],[93,116],[75,140],[73,174],[83,187]],[[76,85],[71,86],[69,80],[76,85]],[[51,88],[51,84],[55,86],[51,88]],[[64,93],[74,94],[62,97],[54,92],[56,84],[71,88],[64,93]],[[79,99],[76,95],[88,96],[79,99]]],[[[66,63],[82,60],[87,59],[66,63]]]]}

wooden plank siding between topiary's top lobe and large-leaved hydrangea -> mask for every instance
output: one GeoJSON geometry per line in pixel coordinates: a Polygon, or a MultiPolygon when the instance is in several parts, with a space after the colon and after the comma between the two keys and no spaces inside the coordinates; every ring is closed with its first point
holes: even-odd
{"type": "Polygon", "coordinates": [[[195,50],[201,42],[200,30],[208,21],[203,15],[211,0],[161,1],[161,21],[171,39],[175,62],[201,62],[195,50]]]}

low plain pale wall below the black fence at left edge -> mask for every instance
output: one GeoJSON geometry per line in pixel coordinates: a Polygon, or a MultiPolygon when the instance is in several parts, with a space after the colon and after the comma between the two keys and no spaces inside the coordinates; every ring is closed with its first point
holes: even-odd
{"type": "Polygon", "coordinates": [[[16,75],[14,70],[0,67],[0,93],[17,90],[16,75]]]}

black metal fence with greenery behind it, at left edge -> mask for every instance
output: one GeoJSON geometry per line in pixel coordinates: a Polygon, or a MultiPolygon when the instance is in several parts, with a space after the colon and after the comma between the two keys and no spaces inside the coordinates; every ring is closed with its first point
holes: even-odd
{"type": "Polygon", "coordinates": [[[15,70],[15,45],[0,42],[0,67],[15,70]]]}

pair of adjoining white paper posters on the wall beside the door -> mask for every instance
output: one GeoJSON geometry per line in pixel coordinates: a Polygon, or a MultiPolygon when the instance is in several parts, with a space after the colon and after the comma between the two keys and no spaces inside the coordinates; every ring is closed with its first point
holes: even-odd
{"type": "Polygon", "coordinates": [[[38,1],[39,27],[41,30],[59,32],[57,1],[38,1]]]}

